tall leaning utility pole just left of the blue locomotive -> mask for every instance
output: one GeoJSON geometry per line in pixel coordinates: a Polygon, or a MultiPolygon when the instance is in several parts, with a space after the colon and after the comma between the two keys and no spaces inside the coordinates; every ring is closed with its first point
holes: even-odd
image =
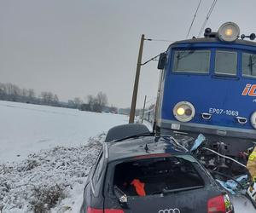
{"type": "Polygon", "coordinates": [[[129,124],[134,123],[136,102],[137,102],[137,89],[138,89],[139,77],[140,77],[141,66],[142,66],[142,58],[143,58],[143,44],[144,44],[144,40],[145,40],[144,37],[145,36],[143,34],[142,38],[141,38],[139,55],[137,57],[137,69],[136,69],[136,76],[135,76],[133,94],[132,94],[132,100],[131,100],[131,112],[130,112],[129,124]]]}

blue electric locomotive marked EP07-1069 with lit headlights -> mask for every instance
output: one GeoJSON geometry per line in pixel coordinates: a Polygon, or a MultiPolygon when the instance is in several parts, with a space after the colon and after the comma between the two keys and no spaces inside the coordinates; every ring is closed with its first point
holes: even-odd
{"type": "Polygon", "coordinates": [[[172,43],[160,55],[156,130],[196,138],[239,156],[256,141],[256,43],[233,22],[172,43]]]}

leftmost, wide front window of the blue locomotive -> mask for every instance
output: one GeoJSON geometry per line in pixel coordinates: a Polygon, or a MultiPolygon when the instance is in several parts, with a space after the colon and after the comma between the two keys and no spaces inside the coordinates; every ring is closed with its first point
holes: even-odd
{"type": "Polygon", "coordinates": [[[176,50],[172,72],[208,73],[210,50],[176,50]]]}

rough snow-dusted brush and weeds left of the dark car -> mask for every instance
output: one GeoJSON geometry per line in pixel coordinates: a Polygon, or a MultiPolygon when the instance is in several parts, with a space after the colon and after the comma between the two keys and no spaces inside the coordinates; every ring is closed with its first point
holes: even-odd
{"type": "Polygon", "coordinates": [[[38,212],[34,206],[47,207],[49,193],[42,192],[52,188],[64,199],[56,200],[51,212],[79,212],[86,177],[104,138],[102,134],[86,145],[49,148],[19,163],[0,164],[0,212],[38,212]]]}

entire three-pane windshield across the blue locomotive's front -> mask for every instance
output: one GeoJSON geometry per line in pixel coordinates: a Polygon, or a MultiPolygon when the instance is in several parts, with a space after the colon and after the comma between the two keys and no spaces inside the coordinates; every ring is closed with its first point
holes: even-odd
{"type": "MultiPolygon", "coordinates": [[[[216,49],[214,73],[216,75],[236,76],[237,52],[225,49],[216,49]]],[[[211,50],[186,49],[175,50],[172,72],[209,73],[211,50]]],[[[243,54],[243,75],[256,76],[256,55],[243,54]]]]}

